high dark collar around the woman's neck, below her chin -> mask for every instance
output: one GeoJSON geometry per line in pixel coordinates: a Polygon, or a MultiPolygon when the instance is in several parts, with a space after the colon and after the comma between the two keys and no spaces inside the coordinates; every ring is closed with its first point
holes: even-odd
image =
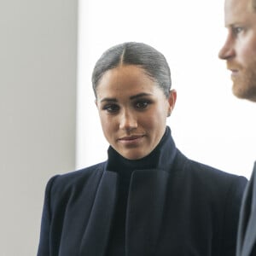
{"type": "Polygon", "coordinates": [[[134,171],[144,169],[161,169],[168,171],[172,165],[177,148],[172,139],[171,129],[166,126],[164,136],[154,150],[139,160],[128,160],[115,151],[108,148],[107,170],[112,172],[134,171]]]}

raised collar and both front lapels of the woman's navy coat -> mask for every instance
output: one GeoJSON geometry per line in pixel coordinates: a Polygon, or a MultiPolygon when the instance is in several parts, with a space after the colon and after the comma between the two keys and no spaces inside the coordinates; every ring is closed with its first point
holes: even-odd
{"type": "MultiPolygon", "coordinates": [[[[136,170],[134,166],[126,208],[126,256],[154,255],[164,214],[168,177],[176,152],[171,130],[166,127],[165,136],[153,152],[154,168],[136,170]]],[[[109,172],[107,166],[108,162],[96,192],[79,255],[103,256],[108,247],[119,173],[109,172]]]]}

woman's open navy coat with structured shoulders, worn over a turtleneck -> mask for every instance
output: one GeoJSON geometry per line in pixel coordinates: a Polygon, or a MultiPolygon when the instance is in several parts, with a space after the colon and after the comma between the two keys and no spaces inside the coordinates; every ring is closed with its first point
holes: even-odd
{"type": "MultiPolygon", "coordinates": [[[[119,181],[107,163],[49,180],[38,256],[106,254],[119,181]]],[[[246,183],[189,160],[170,136],[157,168],[132,173],[125,255],[234,256],[246,183]]]]}

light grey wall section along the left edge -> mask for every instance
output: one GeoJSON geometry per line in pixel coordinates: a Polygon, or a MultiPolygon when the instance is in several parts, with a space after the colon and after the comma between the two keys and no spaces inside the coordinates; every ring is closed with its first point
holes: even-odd
{"type": "Polygon", "coordinates": [[[77,2],[1,1],[0,38],[0,256],[33,256],[46,182],[75,166],[77,2]]]}

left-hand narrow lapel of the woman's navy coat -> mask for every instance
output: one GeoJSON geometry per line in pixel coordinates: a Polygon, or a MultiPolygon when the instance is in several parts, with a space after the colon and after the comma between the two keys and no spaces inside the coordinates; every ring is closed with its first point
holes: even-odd
{"type": "Polygon", "coordinates": [[[101,183],[82,238],[79,255],[102,256],[108,246],[108,235],[116,201],[117,174],[103,172],[101,183]]]}

